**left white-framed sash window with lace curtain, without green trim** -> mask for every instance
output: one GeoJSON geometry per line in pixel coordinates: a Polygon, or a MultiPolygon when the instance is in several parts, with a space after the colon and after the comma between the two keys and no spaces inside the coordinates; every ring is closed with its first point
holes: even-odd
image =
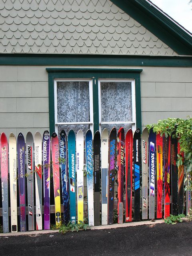
{"type": "Polygon", "coordinates": [[[55,130],[84,133],[93,128],[92,80],[55,80],[55,130]]]}

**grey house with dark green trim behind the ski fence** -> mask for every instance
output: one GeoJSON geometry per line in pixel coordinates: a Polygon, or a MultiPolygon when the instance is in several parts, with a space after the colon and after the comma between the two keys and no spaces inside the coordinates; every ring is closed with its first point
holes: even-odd
{"type": "Polygon", "coordinates": [[[192,34],[149,0],[0,2],[0,132],[192,115],[192,34]]]}

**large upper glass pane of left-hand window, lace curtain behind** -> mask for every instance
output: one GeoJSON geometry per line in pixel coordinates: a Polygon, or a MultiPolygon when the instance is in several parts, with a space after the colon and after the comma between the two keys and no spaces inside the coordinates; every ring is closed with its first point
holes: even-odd
{"type": "Polygon", "coordinates": [[[89,122],[89,82],[57,82],[58,122],[89,122]]]}

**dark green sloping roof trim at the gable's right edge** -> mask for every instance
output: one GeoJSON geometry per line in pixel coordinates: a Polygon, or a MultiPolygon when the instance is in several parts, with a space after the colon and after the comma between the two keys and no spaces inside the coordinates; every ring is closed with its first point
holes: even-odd
{"type": "Polygon", "coordinates": [[[146,0],[111,0],[180,55],[192,55],[192,36],[146,0]]]}

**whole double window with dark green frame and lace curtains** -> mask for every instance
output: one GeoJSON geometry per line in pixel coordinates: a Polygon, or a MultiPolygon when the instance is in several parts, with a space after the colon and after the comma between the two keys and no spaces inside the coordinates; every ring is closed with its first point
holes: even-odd
{"type": "Polygon", "coordinates": [[[141,128],[141,69],[46,68],[50,133],[141,128]]]}

